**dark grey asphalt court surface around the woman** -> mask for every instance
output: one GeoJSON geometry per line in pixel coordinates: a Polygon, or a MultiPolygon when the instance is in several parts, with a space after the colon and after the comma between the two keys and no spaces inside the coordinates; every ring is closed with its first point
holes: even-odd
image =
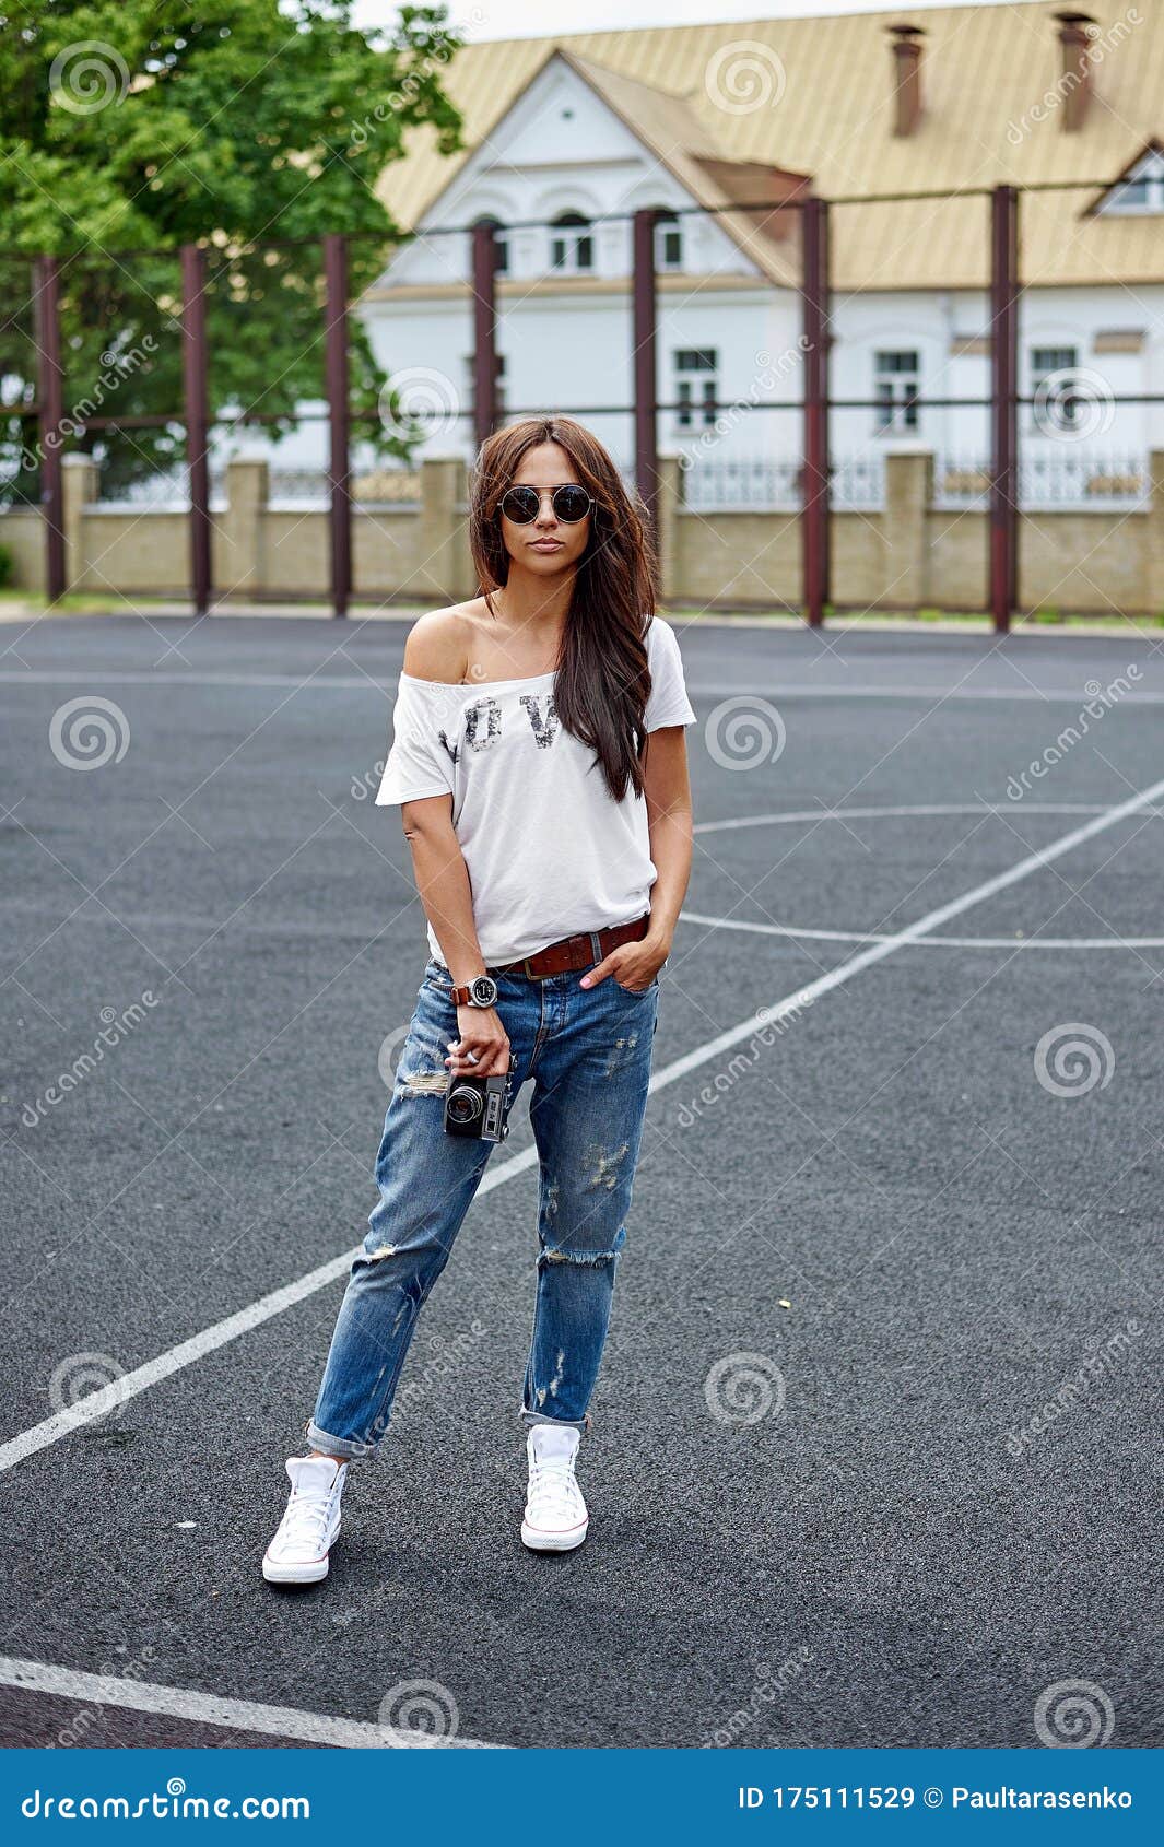
{"type": "MultiPolygon", "coordinates": [[[[0,1740],[277,1744],[246,1703],[358,1727],[423,1681],[499,1745],[1022,1745],[1072,1681],[1160,1742],[1164,791],[1105,820],[1164,779],[1160,643],[673,621],[698,835],[586,1546],[517,1537],[527,1090],[321,1590],[259,1559],[342,1280],[0,1472],[0,1655],[233,1703],[7,1686],[0,1740]]],[[[6,1459],[362,1236],[427,955],[371,803],[405,632],[2,632],[6,1459]]]]}

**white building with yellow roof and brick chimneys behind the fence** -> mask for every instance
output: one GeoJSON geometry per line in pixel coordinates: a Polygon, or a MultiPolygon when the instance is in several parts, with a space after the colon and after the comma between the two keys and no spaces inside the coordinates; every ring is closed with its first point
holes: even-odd
{"type": "MultiPolygon", "coordinates": [[[[567,410],[630,469],[630,214],[654,207],[658,445],[695,506],[791,506],[800,212],[831,209],[831,460],[878,504],[894,447],[937,502],[988,458],[988,192],[1020,198],[1027,504],[1136,504],[1164,447],[1164,9],[1042,4],[578,33],[464,48],[466,150],[382,179],[416,235],[358,312],[429,454],[471,454],[467,227],[497,231],[503,419],[567,410]],[[745,211],[743,207],[750,207],[745,211]]],[[[314,438],[320,440],[320,438],[314,438]]],[[[321,465],[312,432],[279,458],[321,465]]],[[[248,443],[251,453],[259,441],[248,443]]]]}

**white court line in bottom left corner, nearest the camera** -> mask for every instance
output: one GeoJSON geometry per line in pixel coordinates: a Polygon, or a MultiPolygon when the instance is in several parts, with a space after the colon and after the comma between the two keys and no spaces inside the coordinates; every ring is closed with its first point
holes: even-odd
{"type": "Polygon", "coordinates": [[[222,1699],[188,1686],[152,1686],[146,1681],[120,1681],[105,1673],[78,1673],[42,1660],[15,1660],[0,1655],[0,1686],[18,1686],[26,1694],[54,1694],[85,1707],[122,1707],[129,1712],[159,1712],[163,1718],[192,1725],[220,1725],[224,1731],[259,1732],[268,1738],[299,1738],[303,1744],[342,1745],[347,1751],[506,1751],[480,1738],[430,1738],[425,1732],[388,1731],[364,1720],[338,1720],[327,1712],[301,1712],[297,1707],[264,1707],[251,1699],[222,1699]]]}

